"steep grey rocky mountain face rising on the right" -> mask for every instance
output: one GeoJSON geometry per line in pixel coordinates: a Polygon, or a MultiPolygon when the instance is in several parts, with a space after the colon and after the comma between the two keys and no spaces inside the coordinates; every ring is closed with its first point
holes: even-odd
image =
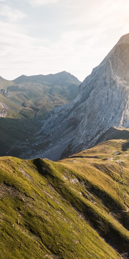
{"type": "Polygon", "coordinates": [[[129,34],[81,83],[77,98],[43,125],[42,144],[48,146],[40,155],[58,160],[91,148],[114,126],[129,126],[129,34]]]}

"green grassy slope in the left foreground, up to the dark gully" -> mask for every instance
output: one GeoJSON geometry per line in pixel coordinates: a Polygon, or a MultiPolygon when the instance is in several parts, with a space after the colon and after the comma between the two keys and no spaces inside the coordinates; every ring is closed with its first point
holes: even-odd
{"type": "Polygon", "coordinates": [[[1,258],[120,258],[56,192],[40,163],[50,166],[45,160],[0,159],[1,258]]]}

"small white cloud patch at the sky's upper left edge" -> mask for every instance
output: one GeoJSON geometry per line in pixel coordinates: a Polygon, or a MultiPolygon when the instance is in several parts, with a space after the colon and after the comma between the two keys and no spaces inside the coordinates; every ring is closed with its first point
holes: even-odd
{"type": "Polygon", "coordinates": [[[5,16],[9,22],[16,22],[26,16],[21,11],[12,9],[7,5],[1,5],[0,14],[1,16],[5,16]]]}

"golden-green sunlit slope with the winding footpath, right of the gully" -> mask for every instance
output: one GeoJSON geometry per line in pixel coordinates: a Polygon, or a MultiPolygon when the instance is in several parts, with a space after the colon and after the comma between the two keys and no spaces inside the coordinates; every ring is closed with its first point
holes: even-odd
{"type": "MultiPolygon", "coordinates": [[[[79,179],[85,179],[83,190],[77,190],[82,180],[73,188],[85,197],[87,209],[81,206],[80,210],[87,220],[108,243],[122,253],[127,252],[128,238],[124,240],[122,236],[129,235],[129,141],[110,140],[60,163],[74,170],[79,179]]],[[[128,258],[128,253],[124,256],[128,258]]]]}

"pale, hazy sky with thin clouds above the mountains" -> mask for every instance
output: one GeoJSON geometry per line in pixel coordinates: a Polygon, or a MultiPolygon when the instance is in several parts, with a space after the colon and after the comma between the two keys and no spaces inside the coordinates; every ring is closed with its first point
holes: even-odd
{"type": "Polygon", "coordinates": [[[128,0],[0,0],[0,76],[83,81],[129,33],[128,0]]]}

